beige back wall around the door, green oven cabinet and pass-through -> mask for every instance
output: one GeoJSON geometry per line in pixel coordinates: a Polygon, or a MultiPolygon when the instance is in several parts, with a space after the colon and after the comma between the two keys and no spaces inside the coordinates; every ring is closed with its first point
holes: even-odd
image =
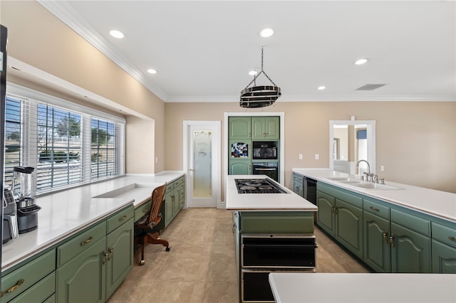
{"type": "MultiPolygon", "coordinates": [[[[276,106],[262,111],[285,113],[285,185],[288,187],[291,187],[291,169],[329,166],[329,120],[356,116],[359,120],[376,121],[376,170],[381,178],[456,193],[456,102],[279,100],[276,106]],[[299,154],[304,154],[304,159],[299,160],[299,154]],[[314,154],[320,155],[318,160],[314,154]],[[385,171],[380,172],[380,165],[385,166],[385,171]]],[[[166,103],[165,167],[182,169],[183,120],[220,120],[223,125],[224,112],[261,110],[245,110],[237,102],[166,103]]],[[[222,142],[226,140],[223,134],[222,128],[222,142]]]]}

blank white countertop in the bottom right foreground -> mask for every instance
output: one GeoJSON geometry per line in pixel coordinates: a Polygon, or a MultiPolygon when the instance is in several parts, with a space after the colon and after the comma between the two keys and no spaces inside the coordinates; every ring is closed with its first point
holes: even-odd
{"type": "Polygon", "coordinates": [[[269,274],[277,303],[456,302],[456,275],[445,274],[269,274]]]}

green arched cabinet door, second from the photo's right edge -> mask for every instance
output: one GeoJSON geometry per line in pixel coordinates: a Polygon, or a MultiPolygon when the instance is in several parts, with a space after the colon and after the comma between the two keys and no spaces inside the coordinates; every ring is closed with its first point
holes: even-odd
{"type": "Polygon", "coordinates": [[[391,272],[431,272],[430,238],[391,222],[391,272]]]}

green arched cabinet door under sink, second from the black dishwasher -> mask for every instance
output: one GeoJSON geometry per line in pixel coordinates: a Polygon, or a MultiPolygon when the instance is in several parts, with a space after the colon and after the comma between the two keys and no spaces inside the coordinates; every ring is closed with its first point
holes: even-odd
{"type": "Polygon", "coordinates": [[[363,211],[336,199],[336,239],[355,255],[363,258],[363,211]]]}

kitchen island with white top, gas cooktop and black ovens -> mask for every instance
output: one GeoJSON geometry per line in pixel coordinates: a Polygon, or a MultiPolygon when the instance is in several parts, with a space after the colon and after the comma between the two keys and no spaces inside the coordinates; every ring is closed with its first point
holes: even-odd
{"type": "Polygon", "coordinates": [[[227,176],[227,211],[233,212],[240,302],[273,302],[268,275],[274,270],[314,272],[316,239],[314,213],[318,208],[288,188],[262,175],[227,176]],[[279,193],[244,193],[236,180],[260,188],[272,182],[279,193]],[[261,184],[261,185],[257,185],[261,184]]]}

